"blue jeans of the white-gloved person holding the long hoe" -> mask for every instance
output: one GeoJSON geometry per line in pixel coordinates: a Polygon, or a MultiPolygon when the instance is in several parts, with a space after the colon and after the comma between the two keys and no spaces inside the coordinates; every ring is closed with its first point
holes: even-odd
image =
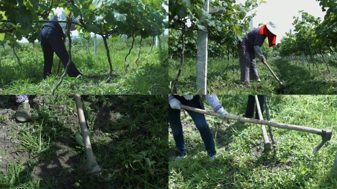
{"type": "MultiPolygon", "coordinates": [[[[175,98],[177,98],[183,105],[203,109],[202,104],[200,102],[200,96],[198,95],[195,95],[192,100],[186,100],[183,96],[177,95],[175,95],[175,98]]],[[[195,123],[200,132],[208,156],[211,157],[216,155],[215,143],[213,140],[212,133],[206,122],[205,116],[201,113],[192,112],[189,110],[187,110],[187,113],[191,116],[193,122],[195,123]]],[[[171,107],[169,107],[169,125],[172,129],[175,146],[177,147],[179,153],[183,155],[184,153],[186,153],[186,146],[184,142],[184,135],[181,125],[180,110],[172,109],[171,107]]]]}

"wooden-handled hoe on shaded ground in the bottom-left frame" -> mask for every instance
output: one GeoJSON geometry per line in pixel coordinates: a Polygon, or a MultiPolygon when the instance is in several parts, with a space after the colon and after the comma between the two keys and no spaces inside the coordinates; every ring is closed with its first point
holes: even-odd
{"type": "Polygon", "coordinates": [[[96,162],[96,158],[93,153],[93,149],[91,148],[88,127],[85,122],[85,117],[83,113],[82,101],[80,95],[75,95],[75,102],[77,107],[78,121],[81,126],[81,132],[85,147],[85,153],[87,155],[87,164],[85,166],[86,173],[93,177],[98,177],[100,175],[101,168],[96,162]]]}

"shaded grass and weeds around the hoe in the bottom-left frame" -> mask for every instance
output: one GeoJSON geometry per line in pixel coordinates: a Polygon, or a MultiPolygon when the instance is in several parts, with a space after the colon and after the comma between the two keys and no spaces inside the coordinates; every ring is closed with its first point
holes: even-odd
{"type": "MultiPolygon", "coordinates": [[[[33,96],[30,122],[11,122],[13,115],[3,120],[13,123],[11,141],[19,141],[17,150],[24,150],[29,157],[0,169],[0,189],[167,188],[166,96],[82,98],[93,152],[101,166],[100,177],[89,178],[82,170],[86,155],[78,140],[80,128],[73,97],[33,96]]],[[[5,151],[0,149],[0,154],[5,151]]]]}

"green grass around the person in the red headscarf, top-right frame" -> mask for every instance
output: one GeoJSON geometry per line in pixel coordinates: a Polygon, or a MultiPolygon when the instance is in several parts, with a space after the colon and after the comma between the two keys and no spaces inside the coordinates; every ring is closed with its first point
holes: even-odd
{"type": "MultiPolygon", "coordinates": [[[[337,62],[330,63],[331,73],[326,72],[326,65],[321,60],[316,60],[317,68],[312,68],[312,63],[303,67],[300,63],[270,58],[268,64],[276,76],[285,84],[280,89],[279,84],[270,71],[262,63],[258,63],[258,72],[261,83],[251,82],[249,86],[240,84],[240,70],[238,59],[227,66],[225,59],[208,60],[207,90],[209,94],[240,95],[240,94],[294,94],[294,95],[331,95],[337,94],[337,62]],[[233,71],[234,70],[234,71],[233,71]]],[[[177,75],[180,60],[170,61],[169,80],[171,85],[177,75]]],[[[178,94],[195,94],[197,65],[196,59],[188,58],[182,69],[178,84],[178,94]]]]}

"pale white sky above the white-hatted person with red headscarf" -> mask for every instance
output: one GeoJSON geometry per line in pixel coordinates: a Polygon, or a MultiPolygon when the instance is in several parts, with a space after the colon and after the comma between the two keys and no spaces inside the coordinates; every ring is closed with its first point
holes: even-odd
{"type": "MultiPolygon", "coordinates": [[[[236,0],[236,2],[244,4],[245,0],[236,0]]],[[[266,3],[253,10],[256,11],[256,16],[253,18],[253,28],[257,28],[259,23],[274,22],[277,32],[280,34],[276,37],[276,43],[279,43],[285,32],[289,32],[290,29],[294,31],[293,17],[301,17],[301,14],[298,13],[300,10],[304,10],[314,17],[320,17],[322,20],[325,15],[316,0],[266,0],[266,3]]]]}

